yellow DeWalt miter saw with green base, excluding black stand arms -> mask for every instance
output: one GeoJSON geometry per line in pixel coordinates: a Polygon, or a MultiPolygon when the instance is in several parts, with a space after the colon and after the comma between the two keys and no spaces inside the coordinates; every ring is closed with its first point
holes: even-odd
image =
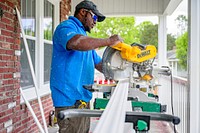
{"type": "Polygon", "coordinates": [[[107,47],[102,57],[105,82],[96,82],[91,88],[104,92],[104,98],[96,98],[94,108],[105,108],[117,81],[129,78],[128,100],[132,101],[134,111],[165,112],[166,105],[158,103],[158,95],[155,93],[158,84],[152,74],[156,54],[154,45],[118,43],[107,47]]]}

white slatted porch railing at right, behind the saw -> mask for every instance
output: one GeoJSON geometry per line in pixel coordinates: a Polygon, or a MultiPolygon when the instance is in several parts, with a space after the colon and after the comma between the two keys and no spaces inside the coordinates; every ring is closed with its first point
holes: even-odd
{"type": "Polygon", "coordinates": [[[167,105],[166,113],[172,114],[174,112],[174,115],[180,118],[181,122],[176,126],[178,133],[188,133],[189,90],[187,79],[173,76],[171,83],[170,77],[161,76],[159,77],[159,83],[161,84],[159,87],[159,102],[167,105]]]}

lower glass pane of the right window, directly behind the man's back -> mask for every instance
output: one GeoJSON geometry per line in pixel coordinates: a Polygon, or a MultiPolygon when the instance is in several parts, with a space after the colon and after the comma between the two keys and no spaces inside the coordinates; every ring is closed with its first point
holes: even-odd
{"type": "Polygon", "coordinates": [[[49,83],[51,57],[52,57],[52,45],[44,44],[44,82],[49,83]]]}

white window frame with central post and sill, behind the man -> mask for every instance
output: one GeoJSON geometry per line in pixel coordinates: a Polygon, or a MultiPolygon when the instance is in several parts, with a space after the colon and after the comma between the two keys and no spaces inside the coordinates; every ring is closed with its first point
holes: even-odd
{"type": "MultiPolygon", "coordinates": [[[[54,30],[59,24],[60,16],[60,0],[48,0],[54,5],[54,30]]],[[[49,83],[44,83],[44,43],[53,44],[52,41],[44,39],[44,0],[36,0],[36,35],[35,37],[26,35],[26,38],[35,40],[35,76],[38,92],[40,97],[50,94],[49,83]],[[42,44],[42,45],[37,45],[42,44]]],[[[37,98],[35,87],[30,87],[23,90],[23,94],[27,100],[33,100],[37,98]]],[[[23,98],[20,98],[20,102],[24,103],[23,98]]]]}

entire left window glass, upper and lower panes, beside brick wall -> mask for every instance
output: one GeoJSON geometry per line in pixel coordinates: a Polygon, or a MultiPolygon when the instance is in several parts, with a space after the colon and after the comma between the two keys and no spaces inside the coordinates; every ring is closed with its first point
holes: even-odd
{"type": "MultiPolygon", "coordinates": [[[[27,43],[33,67],[35,66],[35,28],[36,28],[36,14],[35,14],[35,0],[21,0],[21,21],[23,24],[23,30],[28,36],[27,43]]],[[[31,76],[30,66],[28,64],[27,53],[21,39],[21,87],[27,89],[33,87],[33,79],[31,76]]]]}

